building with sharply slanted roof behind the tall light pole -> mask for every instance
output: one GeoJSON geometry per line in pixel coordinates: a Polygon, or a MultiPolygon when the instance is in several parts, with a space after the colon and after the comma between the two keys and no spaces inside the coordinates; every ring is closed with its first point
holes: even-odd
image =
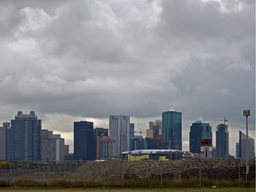
{"type": "MultiPolygon", "coordinates": [[[[248,158],[255,158],[254,140],[248,136],[248,158]]],[[[236,157],[246,157],[246,134],[239,131],[239,141],[236,143],[236,157]]]]}

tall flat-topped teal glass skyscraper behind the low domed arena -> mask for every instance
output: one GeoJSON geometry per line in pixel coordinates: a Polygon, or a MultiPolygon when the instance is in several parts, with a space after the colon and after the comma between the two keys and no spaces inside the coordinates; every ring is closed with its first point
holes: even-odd
{"type": "Polygon", "coordinates": [[[182,150],[181,112],[167,111],[162,114],[162,140],[165,147],[182,150]]]}

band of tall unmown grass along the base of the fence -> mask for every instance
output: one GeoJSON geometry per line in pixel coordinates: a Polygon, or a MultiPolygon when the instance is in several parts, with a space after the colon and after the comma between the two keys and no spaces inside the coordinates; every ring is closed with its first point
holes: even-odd
{"type": "MultiPolygon", "coordinates": [[[[52,179],[52,180],[33,180],[31,178],[23,178],[20,180],[0,180],[0,188],[121,188],[122,180],[68,180],[68,179],[52,179]]],[[[249,182],[250,188],[254,188],[255,180],[249,182]]],[[[164,188],[199,188],[200,182],[198,178],[190,179],[168,179],[164,178],[162,186],[164,188]]],[[[207,178],[201,179],[202,188],[211,188],[217,186],[219,188],[238,188],[238,180],[210,180],[207,178]]],[[[134,178],[124,179],[124,188],[160,188],[161,181],[152,178],[134,178]]],[[[239,187],[245,188],[245,180],[240,180],[239,187]]],[[[180,190],[180,189],[179,189],[180,190]]],[[[212,188],[216,191],[216,188],[212,188]]],[[[152,191],[152,190],[151,190],[152,191]]],[[[1,191],[0,191],[1,192],[1,191]]]]}

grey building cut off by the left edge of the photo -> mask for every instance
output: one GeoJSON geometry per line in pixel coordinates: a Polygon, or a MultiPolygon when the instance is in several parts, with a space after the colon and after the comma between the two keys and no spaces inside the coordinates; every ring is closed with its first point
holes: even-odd
{"type": "Polygon", "coordinates": [[[9,122],[4,122],[3,127],[0,127],[0,161],[6,160],[6,132],[9,128],[9,122]]]}

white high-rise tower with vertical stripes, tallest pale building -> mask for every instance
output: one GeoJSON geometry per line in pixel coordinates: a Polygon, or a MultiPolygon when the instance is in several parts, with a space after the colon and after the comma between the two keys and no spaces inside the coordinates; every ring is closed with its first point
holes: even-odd
{"type": "Polygon", "coordinates": [[[109,136],[116,140],[115,156],[130,150],[130,116],[109,116],[109,136]]]}

